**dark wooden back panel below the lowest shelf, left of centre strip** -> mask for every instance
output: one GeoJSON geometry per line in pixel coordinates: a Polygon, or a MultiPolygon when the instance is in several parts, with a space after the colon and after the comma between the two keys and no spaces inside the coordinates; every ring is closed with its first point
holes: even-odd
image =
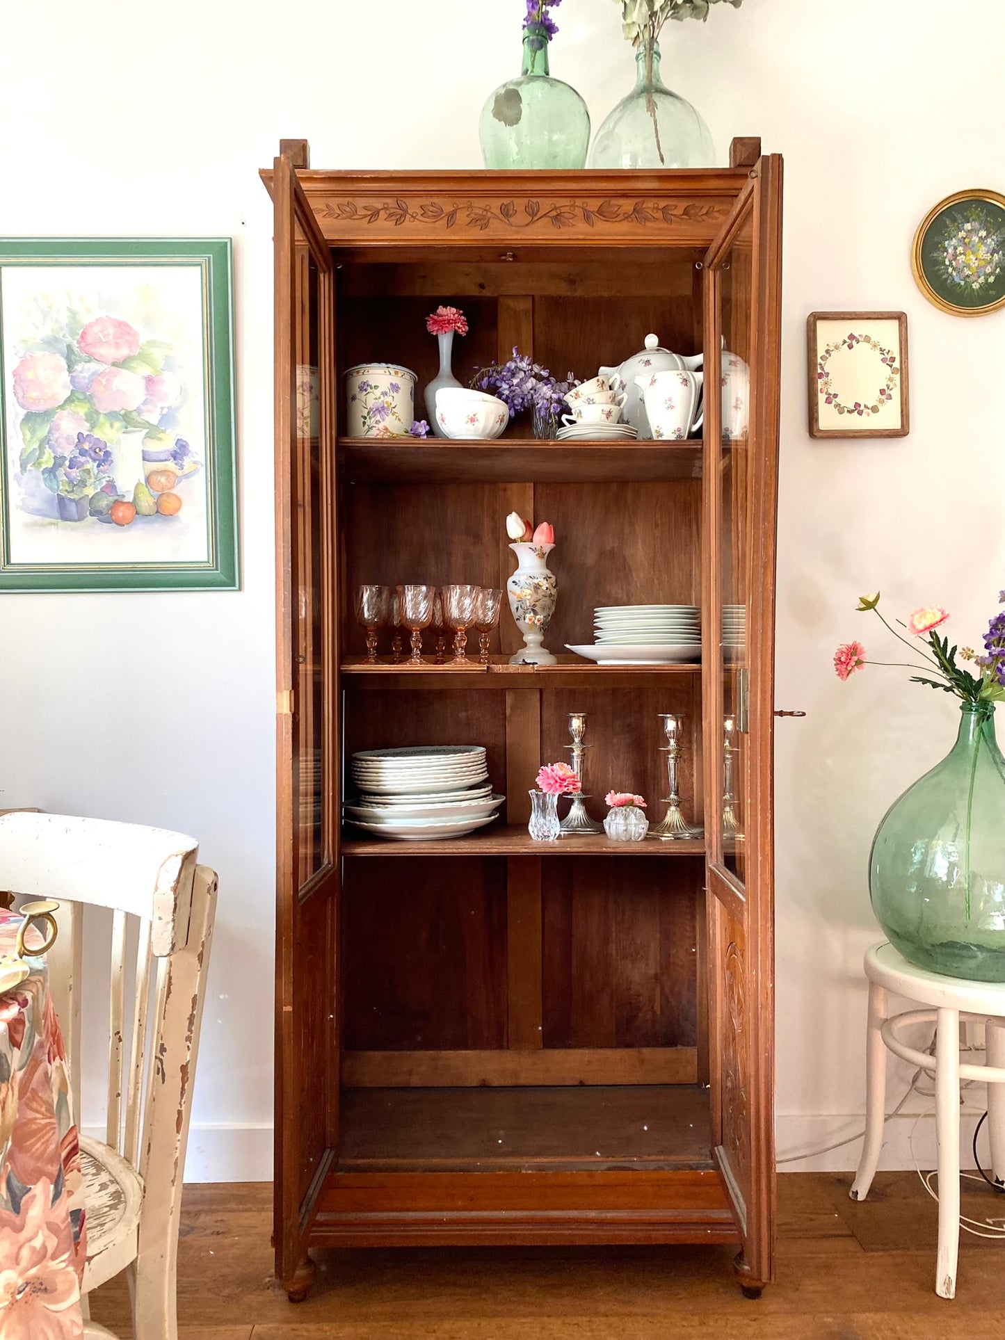
{"type": "Polygon", "coordinates": [[[507,1045],[507,863],[346,862],[343,1045],[507,1045]]]}

